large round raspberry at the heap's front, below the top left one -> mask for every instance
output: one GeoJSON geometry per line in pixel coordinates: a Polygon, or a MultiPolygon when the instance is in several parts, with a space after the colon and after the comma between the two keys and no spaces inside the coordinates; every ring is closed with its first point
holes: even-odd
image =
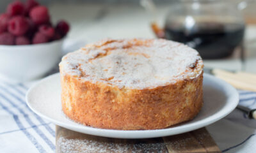
{"type": "Polygon", "coordinates": [[[8,31],[15,36],[21,36],[28,31],[29,23],[25,17],[15,16],[8,22],[8,31]]]}

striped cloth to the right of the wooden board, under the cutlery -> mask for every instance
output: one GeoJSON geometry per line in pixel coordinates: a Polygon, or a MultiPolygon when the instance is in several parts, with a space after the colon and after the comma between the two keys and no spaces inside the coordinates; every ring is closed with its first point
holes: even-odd
{"type": "MultiPolygon", "coordinates": [[[[239,91],[239,104],[256,108],[256,92],[239,91]]],[[[222,152],[256,152],[256,120],[234,110],[224,119],[207,126],[222,152]]]]}

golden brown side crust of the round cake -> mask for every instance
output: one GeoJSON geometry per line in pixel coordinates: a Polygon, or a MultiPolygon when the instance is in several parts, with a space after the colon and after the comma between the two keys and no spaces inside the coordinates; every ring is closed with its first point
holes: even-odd
{"type": "Polygon", "coordinates": [[[143,89],[83,80],[60,64],[62,110],[76,122],[104,129],[162,129],[191,120],[203,105],[203,71],[197,62],[188,68],[196,77],[143,89]]]}

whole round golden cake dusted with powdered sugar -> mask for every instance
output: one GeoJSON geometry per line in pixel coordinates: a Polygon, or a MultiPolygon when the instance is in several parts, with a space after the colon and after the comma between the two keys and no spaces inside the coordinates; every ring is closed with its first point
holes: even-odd
{"type": "Polygon", "coordinates": [[[174,41],[92,43],[60,62],[62,110],[95,128],[168,128],[202,108],[203,66],[196,50],[174,41]]]}

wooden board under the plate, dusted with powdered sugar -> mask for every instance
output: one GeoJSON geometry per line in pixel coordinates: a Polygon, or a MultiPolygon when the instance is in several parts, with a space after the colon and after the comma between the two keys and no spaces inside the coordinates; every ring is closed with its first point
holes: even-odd
{"type": "Polygon", "coordinates": [[[149,139],[118,139],[86,135],[56,126],[56,152],[221,152],[207,129],[149,139]]]}

